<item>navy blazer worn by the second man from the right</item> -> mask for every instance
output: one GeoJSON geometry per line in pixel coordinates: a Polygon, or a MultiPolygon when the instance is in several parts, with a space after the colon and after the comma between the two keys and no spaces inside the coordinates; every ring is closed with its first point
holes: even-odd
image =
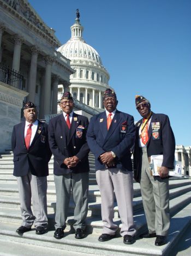
{"type": "Polygon", "coordinates": [[[106,112],[93,116],[87,130],[87,143],[96,157],[96,170],[105,169],[99,156],[113,151],[116,155],[116,168],[132,171],[130,148],[135,141],[133,116],[116,110],[109,130],[106,112]]]}

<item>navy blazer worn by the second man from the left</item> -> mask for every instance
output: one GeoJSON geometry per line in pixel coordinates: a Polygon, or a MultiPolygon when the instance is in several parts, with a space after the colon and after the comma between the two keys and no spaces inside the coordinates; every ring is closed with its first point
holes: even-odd
{"type": "Polygon", "coordinates": [[[89,172],[88,153],[89,147],[86,141],[88,119],[85,116],[73,113],[70,129],[65,122],[63,114],[52,118],[49,122],[49,145],[54,156],[53,172],[55,175],[64,173],[89,172]],[[82,134],[77,136],[77,127],[82,134]],[[63,163],[65,158],[77,156],[80,162],[76,167],[68,169],[63,163]]]}

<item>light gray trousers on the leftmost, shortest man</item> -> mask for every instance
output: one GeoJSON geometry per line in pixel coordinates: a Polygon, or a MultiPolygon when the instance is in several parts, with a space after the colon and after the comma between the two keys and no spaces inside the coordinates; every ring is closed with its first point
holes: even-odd
{"type": "Polygon", "coordinates": [[[28,172],[27,175],[17,177],[19,197],[21,203],[22,226],[47,227],[47,178],[37,177],[28,172]],[[33,212],[31,209],[31,198],[33,212]],[[34,214],[33,214],[34,213],[34,214]]]}

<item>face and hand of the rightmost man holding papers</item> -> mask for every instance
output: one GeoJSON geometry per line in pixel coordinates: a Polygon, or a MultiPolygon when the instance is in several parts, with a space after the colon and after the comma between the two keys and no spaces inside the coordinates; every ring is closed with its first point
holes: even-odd
{"type": "MultiPolygon", "coordinates": [[[[148,104],[145,100],[136,105],[136,109],[143,118],[147,118],[151,113],[151,105],[148,104]]],[[[165,166],[162,166],[158,170],[160,178],[166,178],[169,175],[169,169],[165,166]]]]}

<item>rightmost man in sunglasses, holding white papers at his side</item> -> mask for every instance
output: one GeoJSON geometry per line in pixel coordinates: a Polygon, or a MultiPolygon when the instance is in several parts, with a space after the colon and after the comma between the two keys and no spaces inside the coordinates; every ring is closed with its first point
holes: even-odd
{"type": "Polygon", "coordinates": [[[162,246],[170,226],[168,172],[174,168],[175,137],[169,117],[152,112],[144,96],[136,96],[135,104],[143,118],[136,123],[134,179],[140,183],[148,226],[148,232],[141,237],[157,237],[155,245],[162,246]],[[152,155],[163,155],[156,177],[149,167],[152,155]]]}

